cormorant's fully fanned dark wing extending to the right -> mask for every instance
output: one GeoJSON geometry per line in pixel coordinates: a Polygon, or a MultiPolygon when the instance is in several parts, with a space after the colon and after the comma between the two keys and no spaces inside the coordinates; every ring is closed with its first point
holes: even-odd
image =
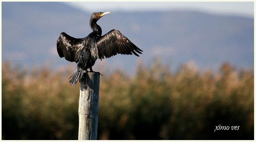
{"type": "Polygon", "coordinates": [[[122,35],[118,30],[111,30],[103,35],[97,42],[98,58],[110,58],[116,54],[126,54],[139,56],[136,52],[142,54],[136,45],[134,45],[127,37],[122,35]],[[136,52],[135,52],[136,51],[136,52]]]}

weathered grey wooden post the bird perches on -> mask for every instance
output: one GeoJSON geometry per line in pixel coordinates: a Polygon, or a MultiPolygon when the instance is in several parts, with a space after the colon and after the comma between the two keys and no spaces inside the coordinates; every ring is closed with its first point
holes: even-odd
{"type": "Polygon", "coordinates": [[[97,140],[100,74],[84,73],[80,82],[78,140],[97,140]]]}

